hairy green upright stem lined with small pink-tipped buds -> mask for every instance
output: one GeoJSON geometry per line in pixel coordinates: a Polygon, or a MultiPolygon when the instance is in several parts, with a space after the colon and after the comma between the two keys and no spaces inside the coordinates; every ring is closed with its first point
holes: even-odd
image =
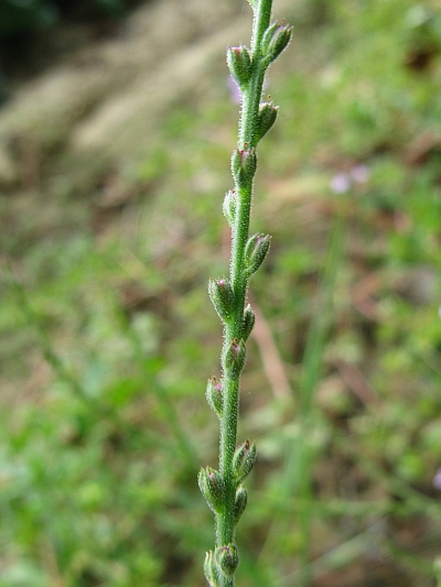
{"type": "Polygon", "coordinates": [[[234,587],[239,563],[235,528],[247,506],[244,481],[256,463],[256,445],[237,446],[238,388],[246,360],[246,341],[256,323],[246,303],[248,283],[268,254],[271,237],[249,236],[249,213],[257,169],[256,148],[275,124],[278,107],[262,101],[265,73],[291,40],[288,24],[270,24],[272,0],[248,0],[255,12],[254,37],[227,50],[227,65],[243,96],[239,141],[232,155],[234,187],[225,195],[223,211],[232,228],[232,264],[228,278],[211,279],[208,294],[224,328],[222,378],[208,380],[206,399],[220,421],[219,469],[200,471],[198,485],[216,518],[216,546],[204,563],[211,587],[234,587]]]}

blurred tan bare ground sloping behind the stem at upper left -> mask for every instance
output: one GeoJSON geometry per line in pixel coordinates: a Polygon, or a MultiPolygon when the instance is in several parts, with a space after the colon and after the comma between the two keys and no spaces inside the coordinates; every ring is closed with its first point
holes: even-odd
{"type": "MultiPolygon", "coordinates": [[[[279,10],[289,6],[281,0],[279,10]]],[[[104,39],[90,25],[55,32],[53,63],[17,84],[0,110],[0,187],[43,182],[51,191],[63,173],[87,192],[109,166],[135,164],[166,109],[197,91],[223,47],[248,34],[243,9],[234,0],[161,0],[104,39]]]]}

